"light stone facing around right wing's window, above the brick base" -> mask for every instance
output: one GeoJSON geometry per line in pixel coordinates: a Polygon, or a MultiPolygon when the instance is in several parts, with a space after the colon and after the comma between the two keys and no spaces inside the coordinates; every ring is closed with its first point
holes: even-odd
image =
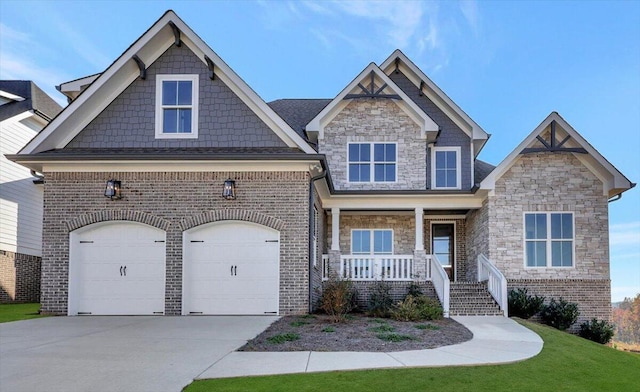
{"type": "Polygon", "coordinates": [[[489,199],[489,258],[507,279],[609,279],[602,182],[572,154],[521,155],[489,199]],[[574,268],[525,268],[524,213],[573,212],[574,268]]]}

